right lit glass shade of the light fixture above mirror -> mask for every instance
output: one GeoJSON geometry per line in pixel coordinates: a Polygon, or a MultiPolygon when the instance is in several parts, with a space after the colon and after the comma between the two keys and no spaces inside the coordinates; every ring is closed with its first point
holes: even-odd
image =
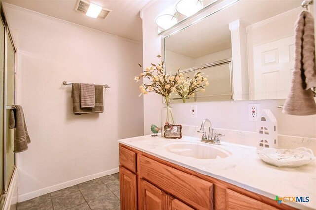
{"type": "Polygon", "coordinates": [[[176,5],[176,10],[185,16],[191,16],[202,9],[202,7],[200,0],[180,0],[176,5]]]}

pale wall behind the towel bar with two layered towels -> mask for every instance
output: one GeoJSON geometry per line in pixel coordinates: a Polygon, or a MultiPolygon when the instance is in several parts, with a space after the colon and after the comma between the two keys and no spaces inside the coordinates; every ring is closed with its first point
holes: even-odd
{"type": "Polygon", "coordinates": [[[8,5],[6,12],[18,32],[17,102],[31,138],[17,156],[20,201],[117,172],[117,140],[143,135],[133,80],[141,44],[8,5]],[[74,115],[64,80],[108,84],[104,113],[74,115]]]}

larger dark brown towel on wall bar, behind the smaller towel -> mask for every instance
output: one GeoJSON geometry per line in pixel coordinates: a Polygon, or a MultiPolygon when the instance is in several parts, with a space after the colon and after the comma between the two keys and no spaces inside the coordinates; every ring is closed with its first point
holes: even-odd
{"type": "Polygon", "coordinates": [[[95,107],[81,108],[80,107],[80,84],[73,83],[72,98],[73,98],[73,113],[74,114],[89,114],[89,113],[103,113],[103,86],[95,85],[95,107]]]}

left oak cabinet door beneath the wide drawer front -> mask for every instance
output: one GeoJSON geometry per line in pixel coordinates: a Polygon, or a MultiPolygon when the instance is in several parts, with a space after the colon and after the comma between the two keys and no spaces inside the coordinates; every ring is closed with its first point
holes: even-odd
{"type": "Polygon", "coordinates": [[[139,183],[139,209],[167,210],[168,195],[154,185],[141,179],[139,183]]]}

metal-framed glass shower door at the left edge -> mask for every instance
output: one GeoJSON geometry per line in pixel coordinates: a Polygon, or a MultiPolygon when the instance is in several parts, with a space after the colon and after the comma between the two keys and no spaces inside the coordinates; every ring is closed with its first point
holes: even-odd
{"type": "MultiPolygon", "coordinates": [[[[2,5],[1,5],[2,10],[2,5]]],[[[15,47],[5,16],[0,18],[0,209],[3,208],[15,166],[14,130],[9,129],[11,106],[15,104],[15,47]]],[[[13,185],[12,185],[13,186],[13,185]]],[[[15,203],[14,203],[15,204],[15,203]]],[[[8,208],[8,207],[4,207],[8,208]]]]}

